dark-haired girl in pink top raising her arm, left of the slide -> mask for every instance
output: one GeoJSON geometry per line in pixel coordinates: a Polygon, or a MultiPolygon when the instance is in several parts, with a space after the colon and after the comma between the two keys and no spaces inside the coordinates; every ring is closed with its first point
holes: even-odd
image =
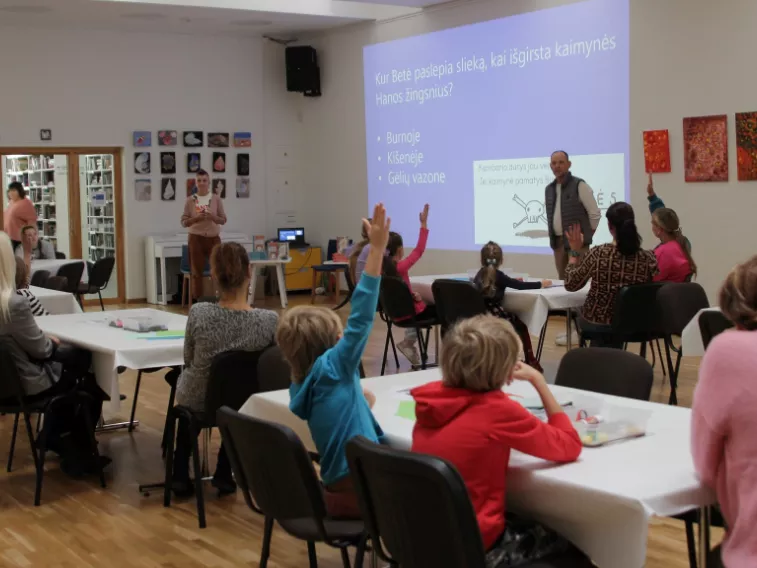
{"type": "MultiPolygon", "coordinates": [[[[428,286],[416,286],[415,289],[410,285],[410,269],[418,262],[423,253],[426,252],[426,242],[428,241],[428,203],[423,207],[419,215],[421,221],[421,230],[418,235],[418,243],[415,245],[413,252],[405,256],[405,247],[403,246],[402,236],[398,233],[389,235],[389,243],[386,245],[386,257],[384,258],[384,275],[396,276],[402,278],[413,293],[415,300],[415,315],[418,319],[436,317],[436,307],[427,304],[433,304],[434,296],[431,288],[428,286]]],[[[405,339],[397,344],[397,349],[407,357],[413,365],[421,364],[421,357],[418,353],[418,333],[414,328],[405,329],[405,339]]]]}

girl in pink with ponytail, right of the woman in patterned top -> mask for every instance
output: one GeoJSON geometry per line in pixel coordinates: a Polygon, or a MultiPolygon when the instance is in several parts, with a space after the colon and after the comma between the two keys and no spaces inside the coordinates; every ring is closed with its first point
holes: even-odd
{"type": "Polygon", "coordinates": [[[696,275],[697,265],[675,211],[656,209],[652,213],[652,232],[661,241],[654,249],[658,270],[655,282],[687,282],[696,275]]]}

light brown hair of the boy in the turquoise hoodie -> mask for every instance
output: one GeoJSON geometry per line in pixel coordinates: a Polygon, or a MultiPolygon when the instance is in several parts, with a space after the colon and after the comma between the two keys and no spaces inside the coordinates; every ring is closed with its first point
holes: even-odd
{"type": "Polygon", "coordinates": [[[292,382],[305,379],[318,357],[336,345],[342,331],[342,320],[327,308],[297,306],[281,316],[276,343],[292,368],[292,382]]]}

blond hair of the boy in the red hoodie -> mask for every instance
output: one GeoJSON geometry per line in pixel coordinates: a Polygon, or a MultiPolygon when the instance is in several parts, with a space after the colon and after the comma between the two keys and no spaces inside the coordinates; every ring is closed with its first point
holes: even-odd
{"type": "Polygon", "coordinates": [[[499,390],[510,380],[523,345],[507,320],[476,316],[462,320],[444,336],[444,386],[476,392],[499,390]]]}

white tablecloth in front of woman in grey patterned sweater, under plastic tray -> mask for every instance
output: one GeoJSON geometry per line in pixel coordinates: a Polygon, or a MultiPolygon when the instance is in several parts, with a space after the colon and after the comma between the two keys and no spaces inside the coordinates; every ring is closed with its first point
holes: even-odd
{"type": "Polygon", "coordinates": [[[187,316],[151,308],[37,318],[37,325],[45,333],[92,351],[92,365],[97,383],[110,395],[113,412],[120,408],[121,391],[116,372],[119,366],[147,369],[184,364],[183,338],[141,339],[134,332],[108,325],[112,319],[128,317],[150,317],[156,323],[165,324],[169,330],[184,330],[187,327],[187,316]]]}

